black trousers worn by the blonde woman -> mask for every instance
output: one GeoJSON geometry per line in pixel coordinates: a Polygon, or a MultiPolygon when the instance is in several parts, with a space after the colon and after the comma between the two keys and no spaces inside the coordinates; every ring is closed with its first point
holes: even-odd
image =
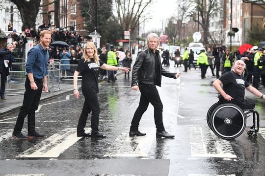
{"type": "Polygon", "coordinates": [[[92,111],[91,115],[91,130],[92,133],[99,132],[99,114],[100,114],[100,106],[97,93],[84,93],[85,97],[83,109],[81,115],[79,117],[77,133],[82,134],[84,132],[86,120],[88,114],[92,111]]]}

